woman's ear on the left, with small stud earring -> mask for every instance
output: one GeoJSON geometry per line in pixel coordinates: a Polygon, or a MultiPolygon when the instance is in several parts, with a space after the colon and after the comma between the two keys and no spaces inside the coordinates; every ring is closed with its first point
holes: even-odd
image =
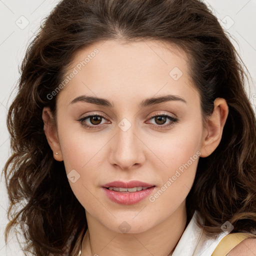
{"type": "Polygon", "coordinates": [[[58,140],[56,124],[52,116],[52,112],[47,106],[45,106],[42,110],[42,119],[44,123],[43,130],[48,144],[53,151],[53,157],[57,161],[62,161],[63,158],[58,140]]]}

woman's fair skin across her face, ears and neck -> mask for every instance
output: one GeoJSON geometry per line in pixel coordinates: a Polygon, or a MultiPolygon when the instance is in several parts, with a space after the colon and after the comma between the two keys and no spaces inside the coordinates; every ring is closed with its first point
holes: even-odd
{"type": "MultiPolygon", "coordinates": [[[[118,204],[105,196],[101,185],[140,180],[154,184],[154,194],[197,151],[206,157],[215,150],[228,114],[226,101],[215,99],[214,111],[203,125],[200,95],[188,75],[188,57],[174,45],[159,41],[94,43],[76,53],[66,74],[94,48],[99,50],[96,56],[57,94],[57,125],[48,107],[42,112],[54,158],[64,161],[67,174],[75,169],[80,175],[69,183],[85,208],[88,223],[82,256],[166,256],[184,231],[185,198],[199,157],[153,202],[147,197],[132,205],[118,204]],[[183,73],[177,80],[169,75],[173,67],[183,73]],[[106,98],[114,107],[69,103],[84,94],[106,98]],[[165,94],[186,103],[172,100],[138,107],[145,98],[165,94]],[[91,113],[106,116],[98,121],[98,128],[87,129],[78,121],[91,113]],[[164,128],[171,120],[151,118],[162,114],[173,115],[178,122],[164,128]],[[123,118],[131,124],[126,131],[118,126],[123,118]],[[127,233],[118,228],[123,221],[130,227],[127,233]]],[[[93,126],[90,120],[84,122],[93,126]]]]}

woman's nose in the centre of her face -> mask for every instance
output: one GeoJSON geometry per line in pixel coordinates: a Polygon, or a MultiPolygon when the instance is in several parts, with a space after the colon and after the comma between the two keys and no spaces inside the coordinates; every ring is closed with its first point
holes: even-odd
{"type": "Polygon", "coordinates": [[[110,163],[122,170],[137,168],[145,160],[143,153],[145,146],[143,146],[143,142],[140,140],[138,132],[133,125],[127,130],[123,129],[122,126],[120,127],[117,127],[117,133],[111,140],[110,163]]]}

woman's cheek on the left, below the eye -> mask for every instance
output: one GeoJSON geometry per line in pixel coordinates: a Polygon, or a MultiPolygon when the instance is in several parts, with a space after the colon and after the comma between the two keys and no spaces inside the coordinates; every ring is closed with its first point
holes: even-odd
{"type": "Polygon", "coordinates": [[[102,175],[100,172],[102,171],[102,157],[106,155],[104,153],[105,142],[92,134],[74,125],[72,128],[65,125],[59,128],[58,132],[70,187],[85,208],[88,204],[93,205],[95,202],[93,194],[98,186],[97,180],[102,175]],[[75,178],[71,179],[70,176],[75,178]]]}

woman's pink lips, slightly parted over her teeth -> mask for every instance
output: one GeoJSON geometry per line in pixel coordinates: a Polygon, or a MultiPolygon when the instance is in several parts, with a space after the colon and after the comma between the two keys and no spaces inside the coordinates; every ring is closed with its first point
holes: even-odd
{"type": "Polygon", "coordinates": [[[134,204],[137,203],[141,200],[143,200],[145,197],[147,197],[150,193],[155,188],[155,185],[148,184],[145,182],[133,180],[130,182],[122,182],[122,181],[113,181],[107,184],[104,184],[102,186],[106,196],[119,204],[134,204]],[[126,187],[126,188],[131,188],[135,186],[146,186],[148,188],[142,189],[140,191],[135,191],[135,192],[120,192],[120,191],[114,191],[114,190],[109,190],[106,187],[126,187]]]}

